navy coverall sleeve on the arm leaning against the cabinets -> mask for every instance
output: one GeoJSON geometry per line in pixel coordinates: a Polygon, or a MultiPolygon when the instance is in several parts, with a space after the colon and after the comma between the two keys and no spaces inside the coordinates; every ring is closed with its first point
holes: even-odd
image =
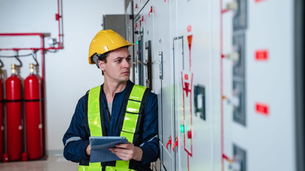
{"type": "Polygon", "coordinates": [[[149,92],[144,112],[143,143],[140,145],[143,151],[141,164],[155,162],[160,155],[158,141],[158,98],[156,94],[149,92]]]}

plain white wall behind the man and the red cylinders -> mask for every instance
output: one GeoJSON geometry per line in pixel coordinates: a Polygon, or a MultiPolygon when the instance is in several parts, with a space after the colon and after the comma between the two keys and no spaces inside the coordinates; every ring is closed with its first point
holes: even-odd
{"type": "MultiPolygon", "coordinates": [[[[0,0],[0,33],[51,33],[51,37],[58,39],[56,13],[57,0],[0,0]]],[[[50,153],[63,150],[63,134],[78,99],[90,88],[103,83],[100,70],[88,64],[89,44],[103,29],[104,14],[124,14],[124,0],[63,0],[62,14],[64,49],[45,54],[46,147],[50,153]]],[[[47,42],[45,45],[48,46],[47,42]]],[[[0,37],[0,48],[12,47],[40,47],[40,38],[0,37]]],[[[20,51],[20,54],[28,53],[31,51],[20,51]]],[[[1,51],[0,55],[13,55],[13,51],[1,51]]],[[[37,57],[40,62],[40,52],[37,57]]],[[[5,65],[4,74],[9,77],[10,65],[16,63],[16,59],[0,59],[5,65]]],[[[20,75],[25,79],[33,59],[20,59],[23,62],[20,75]]]]}

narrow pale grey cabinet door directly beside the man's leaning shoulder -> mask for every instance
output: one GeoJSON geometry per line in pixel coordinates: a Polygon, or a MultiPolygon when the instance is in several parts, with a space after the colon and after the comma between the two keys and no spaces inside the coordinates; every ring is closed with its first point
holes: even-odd
{"type": "Polygon", "coordinates": [[[170,58],[170,3],[154,1],[152,6],[153,33],[154,33],[154,89],[159,99],[159,137],[162,146],[160,149],[161,162],[166,170],[173,170],[173,62],[170,58]],[[169,144],[168,144],[169,143],[169,144]]]}

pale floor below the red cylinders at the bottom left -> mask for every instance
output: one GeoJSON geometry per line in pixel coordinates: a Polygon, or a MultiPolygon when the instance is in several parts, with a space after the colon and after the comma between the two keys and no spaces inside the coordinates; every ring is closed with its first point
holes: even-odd
{"type": "Polygon", "coordinates": [[[78,163],[67,161],[63,156],[50,156],[47,160],[0,163],[0,171],[76,171],[78,163]]]}

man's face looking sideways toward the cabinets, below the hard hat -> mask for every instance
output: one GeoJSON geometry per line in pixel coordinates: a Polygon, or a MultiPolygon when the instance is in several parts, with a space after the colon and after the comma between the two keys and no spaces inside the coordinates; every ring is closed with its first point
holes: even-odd
{"type": "Polygon", "coordinates": [[[124,82],[130,76],[131,56],[127,48],[118,48],[111,51],[106,57],[107,63],[99,61],[99,67],[104,76],[115,82],[124,82]]]}

